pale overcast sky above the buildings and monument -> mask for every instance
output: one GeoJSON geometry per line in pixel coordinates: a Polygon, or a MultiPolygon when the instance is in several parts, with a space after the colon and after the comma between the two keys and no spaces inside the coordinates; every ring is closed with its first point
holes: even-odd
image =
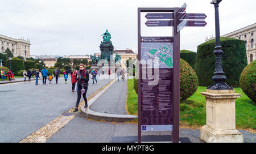
{"type": "MultiPolygon", "coordinates": [[[[109,30],[115,49],[137,51],[138,7],[181,7],[205,13],[205,27],[181,30],[180,49],[196,52],[205,37],[215,36],[211,0],[0,0],[0,34],[30,38],[31,55],[100,53],[102,34],[109,30]]],[[[255,0],[220,3],[221,35],[256,22],[255,0]]],[[[158,31],[155,31],[157,33],[158,31]]]]}

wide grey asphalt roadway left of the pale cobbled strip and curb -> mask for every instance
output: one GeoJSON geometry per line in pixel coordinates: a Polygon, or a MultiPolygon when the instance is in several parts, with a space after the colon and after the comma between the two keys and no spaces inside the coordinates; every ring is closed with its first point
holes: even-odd
{"type": "MultiPolygon", "coordinates": [[[[103,87],[110,80],[89,81],[87,97],[103,87]]],[[[0,85],[0,142],[19,142],[32,132],[40,129],[61,113],[76,104],[77,93],[71,92],[68,83],[59,79],[59,84],[39,85],[35,81],[0,85]]],[[[83,99],[81,98],[81,101],[83,99]]]]}

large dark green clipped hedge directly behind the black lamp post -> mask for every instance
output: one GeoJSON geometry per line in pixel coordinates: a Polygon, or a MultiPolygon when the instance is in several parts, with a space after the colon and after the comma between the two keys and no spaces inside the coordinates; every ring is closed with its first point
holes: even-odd
{"type": "MultiPolygon", "coordinates": [[[[239,87],[239,76],[247,65],[245,41],[235,38],[221,37],[223,54],[222,67],[229,86],[239,87]]],[[[195,71],[200,86],[209,86],[213,83],[212,76],[215,70],[216,56],[213,54],[215,39],[197,46],[195,71]]]]}

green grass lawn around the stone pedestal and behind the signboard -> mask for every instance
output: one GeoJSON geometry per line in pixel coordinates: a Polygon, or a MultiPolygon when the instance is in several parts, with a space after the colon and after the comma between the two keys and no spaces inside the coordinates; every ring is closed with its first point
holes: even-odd
{"type": "MultiPolygon", "coordinates": [[[[128,80],[127,110],[130,114],[138,115],[138,95],[133,88],[134,79],[128,80]]],[[[180,127],[199,129],[206,124],[205,92],[207,87],[198,87],[194,95],[186,101],[180,102],[180,127]]],[[[236,99],[236,126],[237,129],[256,132],[256,104],[243,93],[241,88],[234,88],[241,97],[236,99]]]]}

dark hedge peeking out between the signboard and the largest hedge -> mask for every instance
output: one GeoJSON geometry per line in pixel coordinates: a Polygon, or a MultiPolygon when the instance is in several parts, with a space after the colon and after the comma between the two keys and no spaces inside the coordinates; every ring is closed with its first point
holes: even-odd
{"type": "Polygon", "coordinates": [[[180,58],[186,61],[195,70],[196,53],[189,50],[180,50],[180,58]]]}

